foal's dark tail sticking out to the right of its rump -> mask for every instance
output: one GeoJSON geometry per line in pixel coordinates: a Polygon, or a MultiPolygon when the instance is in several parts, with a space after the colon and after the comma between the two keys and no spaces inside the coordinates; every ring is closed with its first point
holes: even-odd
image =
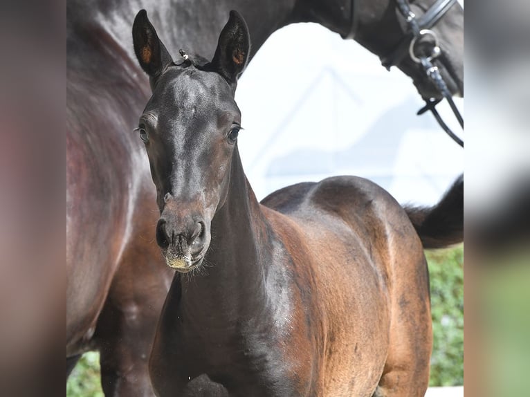
{"type": "Polygon", "coordinates": [[[432,207],[405,206],[423,248],[444,248],[464,241],[464,174],[432,207]]]}

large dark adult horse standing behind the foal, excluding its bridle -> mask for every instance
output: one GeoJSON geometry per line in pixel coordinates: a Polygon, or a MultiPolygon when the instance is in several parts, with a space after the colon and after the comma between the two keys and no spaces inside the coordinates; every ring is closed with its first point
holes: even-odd
{"type": "MultiPolygon", "coordinates": [[[[152,10],[167,48],[212,55],[232,8],[250,26],[249,58],[275,30],[313,21],[346,36],[350,0],[336,1],[95,1],[66,5],[66,357],[67,373],[84,351],[101,352],[105,394],[150,394],[147,356],[172,274],[158,259],[152,230],[158,218],[152,181],[138,138],[124,134],[149,97],[149,84],[129,50],[138,8],[152,10]]],[[[421,15],[430,1],[417,1],[421,15]]],[[[403,36],[390,0],[358,3],[356,40],[378,55],[403,36]]],[[[462,9],[435,26],[448,56],[446,79],[462,93],[462,9]],[[450,71],[450,72],[449,72],[450,71]]],[[[436,96],[410,59],[399,65],[424,96],[436,96]]]]}

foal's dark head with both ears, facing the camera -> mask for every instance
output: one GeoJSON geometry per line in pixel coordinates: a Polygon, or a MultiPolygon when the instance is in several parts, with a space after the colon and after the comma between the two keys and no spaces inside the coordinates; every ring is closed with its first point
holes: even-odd
{"type": "Polygon", "coordinates": [[[136,15],[133,39],[152,88],[138,131],[161,211],[156,242],[169,266],[187,272],[201,264],[210,223],[228,192],[241,128],[234,93],[248,59],[248,29],[230,12],[211,62],[186,55],[173,62],[145,10],[136,15]]]}

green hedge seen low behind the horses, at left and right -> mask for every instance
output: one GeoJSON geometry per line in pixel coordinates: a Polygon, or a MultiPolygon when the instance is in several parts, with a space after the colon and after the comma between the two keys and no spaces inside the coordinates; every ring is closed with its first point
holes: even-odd
{"type": "MultiPolygon", "coordinates": [[[[430,385],[464,384],[464,248],[426,252],[430,272],[430,385]]],[[[67,397],[102,397],[99,354],[86,353],[66,384],[67,397]]]]}

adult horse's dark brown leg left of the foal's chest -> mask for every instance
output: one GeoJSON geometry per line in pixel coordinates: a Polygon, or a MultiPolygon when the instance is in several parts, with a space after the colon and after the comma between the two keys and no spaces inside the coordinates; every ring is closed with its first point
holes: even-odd
{"type": "Polygon", "coordinates": [[[133,232],[94,335],[105,396],[154,395],[149,354],[173,273],[161,260],[154,239],[149,239],[156,219],[145,223],[142,232],[133,232]]]}

